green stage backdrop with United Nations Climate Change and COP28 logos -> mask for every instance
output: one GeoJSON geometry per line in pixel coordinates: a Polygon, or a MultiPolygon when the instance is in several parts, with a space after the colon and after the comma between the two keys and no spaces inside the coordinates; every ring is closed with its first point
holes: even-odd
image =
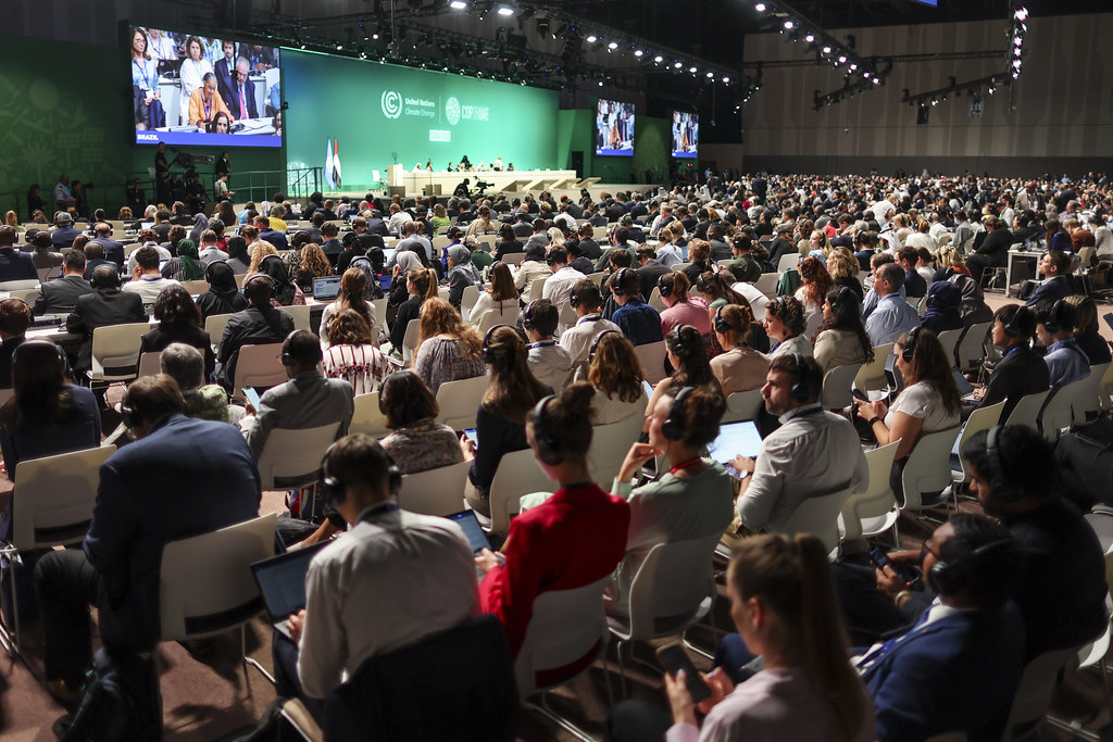
{"type": "Polygon", "coordinates": [[[385,181],[395,162],[443,170],[464,155],[473,165],[556,167],[553,90],[286,49],[283,82],[287,164],[325,167],[334,142],[336,190],[366,188],[373,170],[385,181]]]}

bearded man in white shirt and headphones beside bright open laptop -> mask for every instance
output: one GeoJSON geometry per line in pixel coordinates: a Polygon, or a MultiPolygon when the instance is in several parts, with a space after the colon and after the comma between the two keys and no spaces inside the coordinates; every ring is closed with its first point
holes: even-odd
{"type": "Polygon", "coordinates": [[[841,415],[819,403],[824,376],[815,358],[790,354],[772,359],[761,397],[780,427],[761,442],[758,457],[736,456],[731,466],[745,477],[738,517],[751,532],[776,531],[808,497],[869,484],[858,434],[841,415]],[[746,473],[752,476],[746,476],[746,473]]]}

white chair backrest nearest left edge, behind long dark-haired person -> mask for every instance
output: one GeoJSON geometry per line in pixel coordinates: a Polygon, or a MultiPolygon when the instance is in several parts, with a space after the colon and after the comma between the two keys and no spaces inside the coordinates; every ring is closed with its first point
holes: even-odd
{"type": "Polygon", "coordinates": [[[20,551],[85,538],[100,485],[100,465],[116,446],[30,458],[16,466],[12,544],[20,551]]]}

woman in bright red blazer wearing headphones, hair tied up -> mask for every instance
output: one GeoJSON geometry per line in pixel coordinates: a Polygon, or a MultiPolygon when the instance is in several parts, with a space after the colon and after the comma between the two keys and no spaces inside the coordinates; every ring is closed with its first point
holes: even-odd
{"type": "MultiPolygon", "coordinates": [[[[475,558],[486,571],[480,583],[482,609],[502,623],[515,656],[538,595],[598,582],[626,553],[630,506],[592,482],[588,467],[594,394],[590,384],[572,384],[559,397],[542,397],[526,414],[525,436],[534,458],[560,488],[510,522],[505,560],[487,550],[475,558]]],[[[592,647],[587,656],[545,675],[568,677],[594,656],[592,647]]]]}

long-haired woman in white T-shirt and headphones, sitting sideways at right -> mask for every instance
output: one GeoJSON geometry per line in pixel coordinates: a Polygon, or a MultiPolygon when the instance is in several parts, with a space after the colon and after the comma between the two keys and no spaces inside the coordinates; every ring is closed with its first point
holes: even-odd
{"type": "MultiPolygon", "coordinates": [[[[858,417],[867,421],[877,445],[897,439],[889,483],[897,502],[904,502],[900,475],[919,438],[955,427],[962,422],[962,397],[951,373],[951,359],[929,329],[913,328],[893,344],[896,366],[905,380],[890,407],[885,402],[859,402],[858,417]]],[[[928,493],[923,493],[926,496],[928,493]]]]}

